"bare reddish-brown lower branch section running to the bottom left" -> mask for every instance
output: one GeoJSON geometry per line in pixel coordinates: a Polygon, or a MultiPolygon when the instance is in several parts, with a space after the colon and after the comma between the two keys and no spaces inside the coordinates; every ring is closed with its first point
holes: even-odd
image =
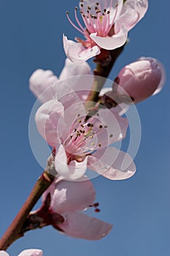
{"type": "Polygon", "coordinates": [[[20,209],[18,215],[15,217],[7,231],[4,233],[4,236],[1,237],[1,250],[6,250],[15,240],[23,236],[21,231],[23,223],[26,221],[28,214],[39,200],[39,197],[41,197],[43,192],[45,192],[50,184],[52,184],[54,178],[55,176],[51,175],[47,172],[47,170],[45,170],[42,173],[42,176],[40,176],[36,181],[36,184],[34,185],[34,188],[32,189],[26,202],[23,204],[23,207],[20,209]]]}

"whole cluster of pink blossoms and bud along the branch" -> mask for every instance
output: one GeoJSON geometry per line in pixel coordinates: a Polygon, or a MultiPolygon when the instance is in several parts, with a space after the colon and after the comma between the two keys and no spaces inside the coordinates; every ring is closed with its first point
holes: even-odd
{"type": "MultiPolygon", "coordinates": [[[[76,37],[74,42],[63,35],[67,58],[59,76],[44,69],[31,75],[29,88],[41,102],[36,128],[50,147],[50,175],[55,178],[23,230],[52,225],[67,236],[87,240],[104,238],[112,230],[111,224],[86,214],[89,208],[100,211],[87,170],[110,180],[131,178],[136,172],[133,157],[113,144],[127,134],[128,108],[163,88],[163,65],[141,57],[123,67],[111,87],[104,85],[128,31],[147,7],[147,0],[81,0],[80,12],[74,10],[75,23],[69,12],[66,15],[85,39],[76,37]],[[97,64],[94,70],[86,62],[92,57],[97,64]]],[[[35,255],[42,256],[42,250],[24,250],[19,256],[35,255]]],[[[0,256],[9,255],[0,251],[0,256]]]]}

